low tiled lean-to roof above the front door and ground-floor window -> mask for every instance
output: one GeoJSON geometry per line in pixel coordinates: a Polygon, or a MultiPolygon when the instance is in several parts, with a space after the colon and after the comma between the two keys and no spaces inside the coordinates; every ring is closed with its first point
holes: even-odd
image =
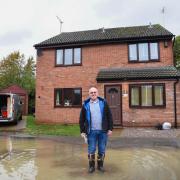
{"type": "Polygon", "coordinates": [[[97,81],[177,79],[180,71],[174,66],[147,68],[107,68],[98,72],[97,81]]]}

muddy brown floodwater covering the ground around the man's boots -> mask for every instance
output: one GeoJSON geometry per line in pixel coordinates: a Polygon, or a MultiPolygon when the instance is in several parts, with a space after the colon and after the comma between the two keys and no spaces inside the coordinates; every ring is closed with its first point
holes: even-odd
{"type": "Polygon", "coordinates": [[[86,145],[0,136],[2,180],[178,180],[180,149],[108,148],[105,173],[87,173],[86,145]]]}

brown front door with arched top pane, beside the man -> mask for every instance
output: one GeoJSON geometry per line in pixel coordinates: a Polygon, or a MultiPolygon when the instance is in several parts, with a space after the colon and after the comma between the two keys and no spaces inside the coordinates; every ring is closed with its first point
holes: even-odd
{"type": "Polygon", "coordinates": [[[115,126],[122,125],[120,85],[105,86],[105,97],[112,112],[113,124],[115,126]]]}

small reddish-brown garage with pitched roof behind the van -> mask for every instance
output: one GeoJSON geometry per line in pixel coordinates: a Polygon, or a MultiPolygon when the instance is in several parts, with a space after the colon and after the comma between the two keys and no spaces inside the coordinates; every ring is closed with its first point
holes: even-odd
{"type": "Polygon", "coordinates": [[[11,85],[5,89],[1,89],[0,93],[13,93],[18,94],[22,101],[22,114],[28,114],[28,93],[25,89],[21,88],[18,85],[11,85]]]}

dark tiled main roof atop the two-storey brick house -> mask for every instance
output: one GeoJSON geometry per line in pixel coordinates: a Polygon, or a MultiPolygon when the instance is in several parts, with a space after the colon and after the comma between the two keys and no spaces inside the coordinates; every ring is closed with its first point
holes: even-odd
{"type": "Polygon", "coordinates": [[[63,32],[35,44],[35,48],[84,45],[137,40],[171,39],[174,35],[159,24],[148,26],[118,27],[77,32],[63,32]]]}

